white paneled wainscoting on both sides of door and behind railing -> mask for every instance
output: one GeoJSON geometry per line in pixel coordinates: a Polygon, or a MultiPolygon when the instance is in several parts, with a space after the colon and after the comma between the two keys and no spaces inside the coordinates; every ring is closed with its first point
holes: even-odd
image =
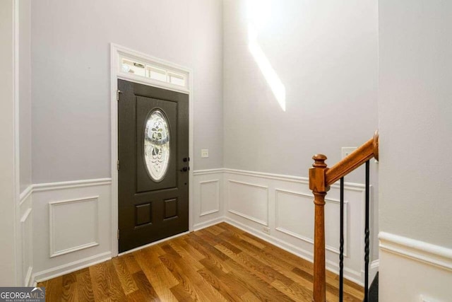
{"type": "MultiPolygon", "coordinates": [[[[314,206],[307,178],[232,169],[196,170],[193,175],[192,230],[227,221],[313,260],[314,206]]],[[[111,194],[109,178],[32,185],[24,192],[24,283],[112,257],[111,194]]],[[[326,199],[326,263],[333,272],[338,272],[338,199],[333,185],[326,199]]],[[[364,185],[346,183],[345,199],[345,277],[362,284],[364,185]]]]}

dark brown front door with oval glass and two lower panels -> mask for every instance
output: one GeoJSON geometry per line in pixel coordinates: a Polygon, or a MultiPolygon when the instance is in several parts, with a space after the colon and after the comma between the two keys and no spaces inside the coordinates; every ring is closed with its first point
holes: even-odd
{"type": "Polygon", "coordinates": [[[189,96],[118,80],[119,252],[189,229],[189,96]]]}

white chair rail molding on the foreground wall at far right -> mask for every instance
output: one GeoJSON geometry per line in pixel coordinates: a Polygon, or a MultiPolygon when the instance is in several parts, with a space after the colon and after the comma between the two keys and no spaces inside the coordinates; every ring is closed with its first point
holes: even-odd
{"type": "Polygon", "coordinates": [[[380,249],[452,271],[452,249],[408,237],[380,232],[380,249]]]}

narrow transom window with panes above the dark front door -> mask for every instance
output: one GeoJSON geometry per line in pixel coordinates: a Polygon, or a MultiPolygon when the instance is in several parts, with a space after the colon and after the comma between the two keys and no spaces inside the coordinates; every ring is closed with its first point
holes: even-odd
{"type": "Polygon", "coordinates": [[[141,76],[188,88],[186,74],[167,69],[165,66],[142,62],[132,57],[119,56],[119,70],[126,74],[133,74],[134,76],[141,76]]]}

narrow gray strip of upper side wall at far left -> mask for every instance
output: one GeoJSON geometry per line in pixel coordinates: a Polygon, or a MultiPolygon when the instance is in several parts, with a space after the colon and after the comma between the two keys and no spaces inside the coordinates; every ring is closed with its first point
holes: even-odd
{"type": "Polygon", "coordinates": [[[20,192],[31,181],[31,3],[19,3],[19,150],[20,150],[20,192]]]}

